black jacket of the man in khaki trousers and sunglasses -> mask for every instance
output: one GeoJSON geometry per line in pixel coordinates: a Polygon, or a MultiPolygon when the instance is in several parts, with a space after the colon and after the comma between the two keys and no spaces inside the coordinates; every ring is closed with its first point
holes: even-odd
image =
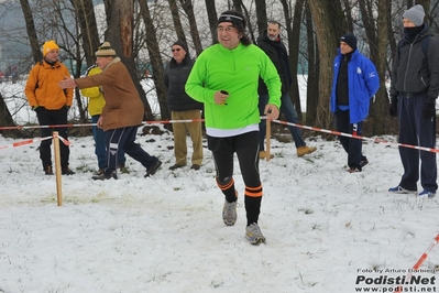
{"type": "Polygon", "coordinates": [[[171,111],[187,111],[202,109],[202,104],[190,98],[185,91],[185,85],[194,66],[194,61],[187,54],[180,64],[171,58],[163,76],[167,87],[166,101],[171,111]]]}

